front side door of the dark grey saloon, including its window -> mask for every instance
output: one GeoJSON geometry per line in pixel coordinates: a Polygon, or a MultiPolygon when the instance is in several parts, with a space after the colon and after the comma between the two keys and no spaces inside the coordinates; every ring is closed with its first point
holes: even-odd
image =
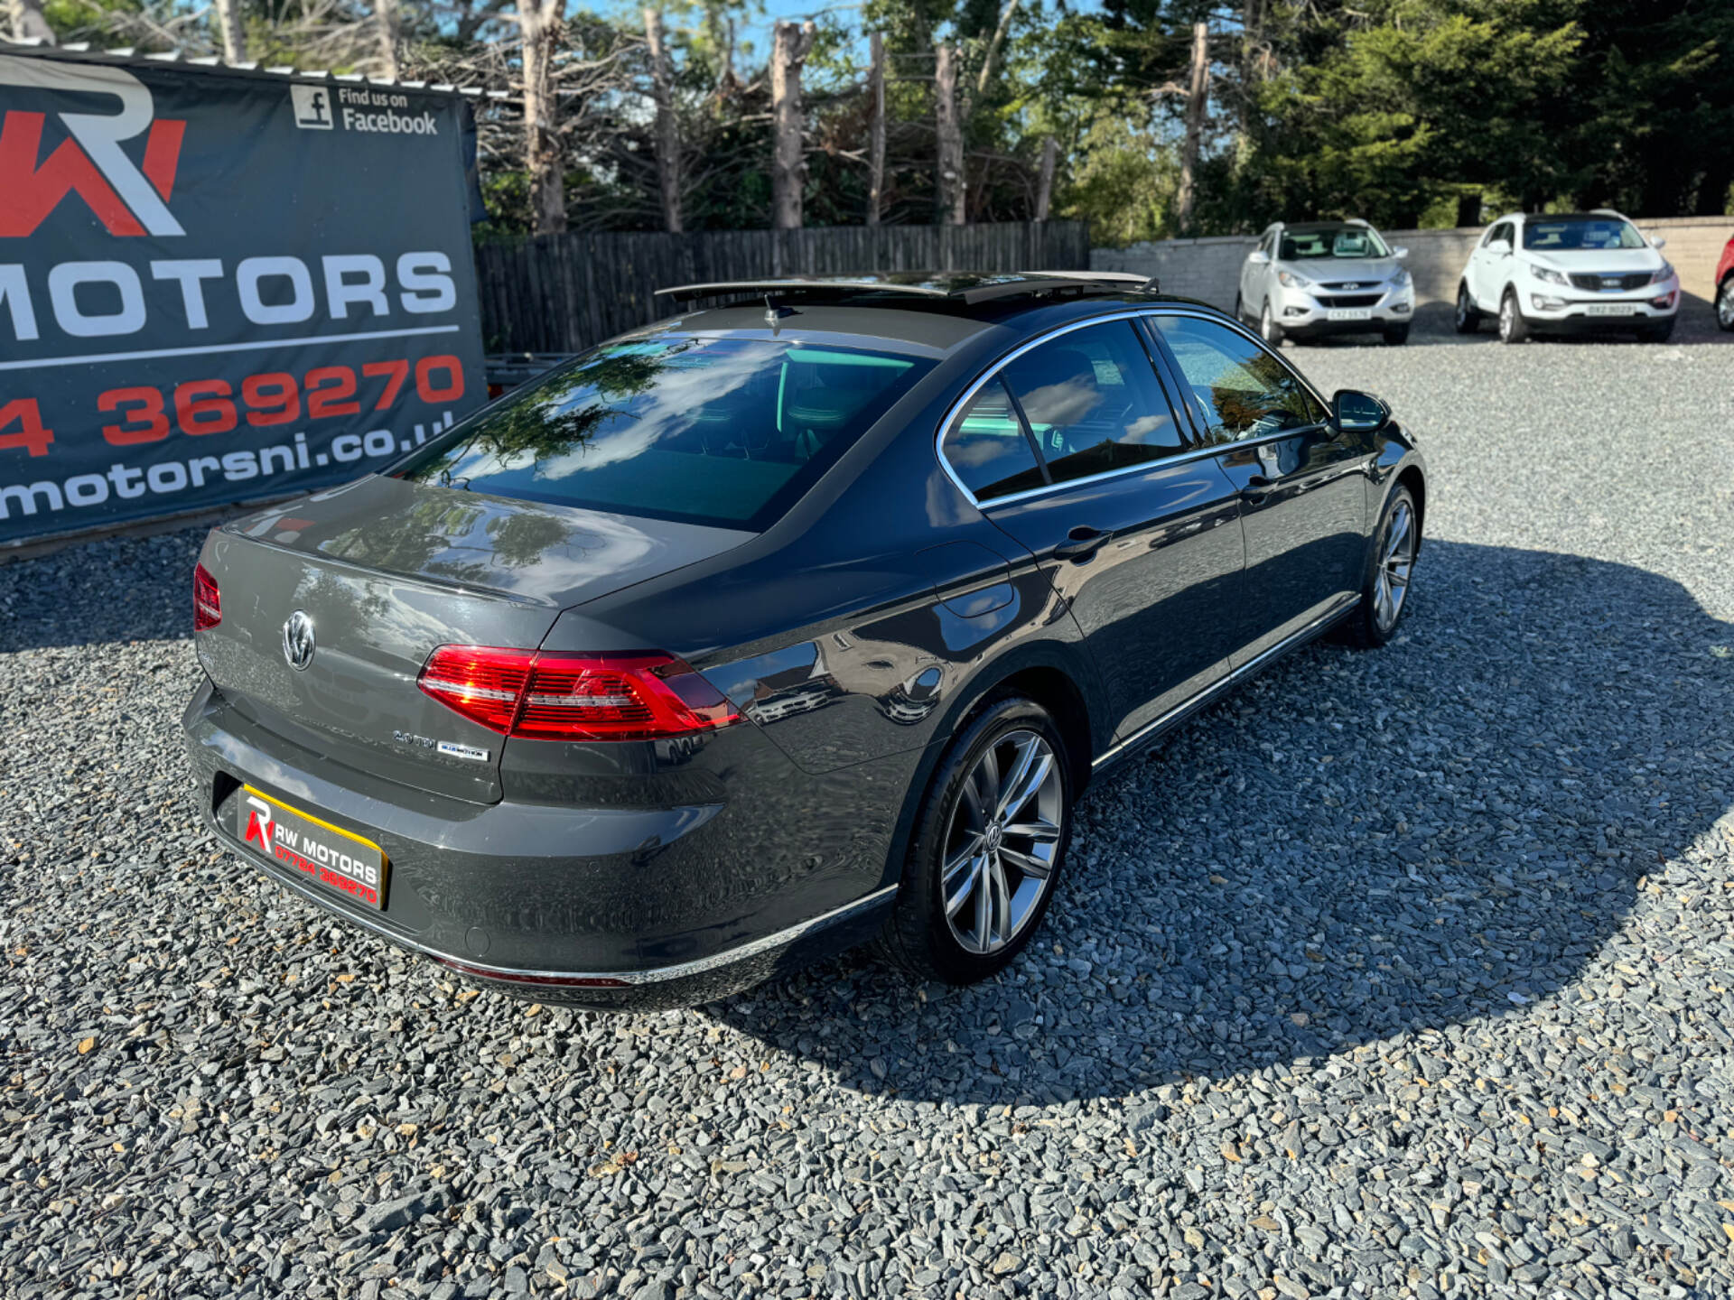
{"type": "Polygon", "coordinates": [[[1337,432],[1318,395],[1248,333],[1198,315],[1162,314],[1150,324],[1240,497],[1238,667],[1359,591],[1373,445],[1337,432]]]}

